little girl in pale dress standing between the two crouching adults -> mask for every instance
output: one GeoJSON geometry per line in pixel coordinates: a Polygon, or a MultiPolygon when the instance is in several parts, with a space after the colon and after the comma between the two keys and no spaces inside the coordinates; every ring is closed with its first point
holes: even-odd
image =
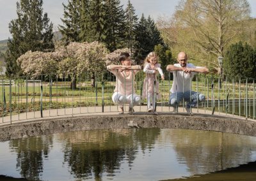
{"type": "MultiPolygon", "coordinates": [[[[143,98],[147,98],[147,110],[148,112],[154,112],[155,115],[158,115],[156,112],[156,100],[154,92],[156,92],[157,97],[159,96],[159,82],[157,81],[157,73],[160,73],[161,79],[164,80],[163,70],[160,68],[161,64],[157,63],[157,55],[155,52],[150,52],[144,64],[143,71],[146,73],[146,77],[143,83],[143,98]],[[156,90],[154,86],[154,80],[156,80],[156,90]],[[151,106],[152,104],[152,106],[151,106]]],[[[157,98],[156,98],[157,99],[157,98]]]]}

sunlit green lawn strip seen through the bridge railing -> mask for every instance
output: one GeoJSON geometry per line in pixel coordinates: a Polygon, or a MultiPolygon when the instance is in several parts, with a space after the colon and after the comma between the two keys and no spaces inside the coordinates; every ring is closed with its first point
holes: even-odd
{"type": "MultiPolygon", "coordinates": [[[[170,82],[170,85],[172,85],[172,81],[170,82]]],[[[168,98],[170,92],[170,86],[168,81],[161,81],[159,83],[159,92],[164,96],[164,99],[168,98]]],[[[193,82],[192,90],[197,92],[202,92],[207,96],[208,99],[212,98],[212,89],[210,87],[211,85],[207,84],[205,86],[205,83],[198,83],[196,85],[196,82],[193,82]]],[[[3,92],[5,92],[5,98],[6,101],[10,100],[10,88],[11,94],[12,94],[12,101],[17,101],[18,99],[40,99],[41,94],[41,88],[39,84],[35,84],[35,87],[33,87],[30,83],[30,86],[26,87],[24,86],[8,86],[5,85],[4,87],[0,86],[0,101],[3,102],[3,92]]],[[[214,87],[214,98],[220,98],[220,99],[227,99],[228,97],[238,99],[239,98],[239,87],[232,87],[232,85],[227,84],[223,85],[223,88],[218,90],[218,86],[214,87]],[[228,89],[229,86],[229,89],[228,89]],[[225,89],[223,89],[225,88],[225,89]],[[233,94],[233,91],[235,94],[233,94]]],[[[104,85],[104,96],[111,97],[113,94],[113,90],[115,89],[115,83],[105,83],[104,85]]],[[[65,98],[72,98],[75,99],[95,99],[96,97],[99,99],[102,97],[102,86],[98,84],[97,90],[93,88],[89,83],[86,83],[86,85],[79,87],[79,84],[77,84],[77,88],[72,90],[69,86],[64,85],[54,85],[52,86],[52,89],[50,89],[50,86],[48,83],[43,83],[43,100],[47,101],[52,97],[52,99],[58,99],[58,101],[62,101],[65,98]]],[[[136,94],[141,94],[141,83],[136,84],[136,94]]],[[[254,92],[255,94],[255,92],[254,92]]],[[[241,85],[241,98],[246,97],[246,89],[244,85],[241,85]]],[[[252,87],[248,89],[248,98],[253,98],[253,90],[252,87]]]]}

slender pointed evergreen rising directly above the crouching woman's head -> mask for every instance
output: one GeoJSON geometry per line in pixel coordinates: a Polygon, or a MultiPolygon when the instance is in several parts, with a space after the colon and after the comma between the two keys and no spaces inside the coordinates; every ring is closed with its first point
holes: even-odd
{"type": "Polygon", "coordinates": [[[125,9],[125,39],[127,41],[127,47],[132,52],[132,44],[135,38],[135,27],[138,23],[138,17],[135,15],[134,7],[130,0],[128,1],[127,8],[125,9]]]}

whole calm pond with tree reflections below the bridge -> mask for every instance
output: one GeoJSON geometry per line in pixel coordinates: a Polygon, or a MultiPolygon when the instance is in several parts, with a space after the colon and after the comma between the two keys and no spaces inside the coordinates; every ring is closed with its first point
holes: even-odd
{"type": "MultiPolygon", "coordinates": [[[[0,175],[28,180],[212,179],[216,174],[234,180],[228,169],[250,170],[256,161],[254,137],[184,129],[77,131],[5,141],[0,147],[0,175]]],[[[255,178],[255,173],[239,175],[255,178]]]]}

